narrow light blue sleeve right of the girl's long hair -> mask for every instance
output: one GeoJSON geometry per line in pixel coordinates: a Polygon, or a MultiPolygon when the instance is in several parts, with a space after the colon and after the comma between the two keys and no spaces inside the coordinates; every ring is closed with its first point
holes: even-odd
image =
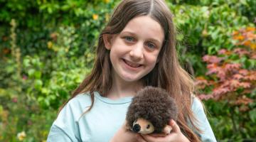
{"type": "Polygon", "coordinates": [[[203,142],[215,142],[216,138],[214,136],[213,130],[210,127],[209,121],[206,117],[206,113],[203,109],[203,104],[198,98],[193,99],[192,111],[198,120],[195,123],[196,126],[202,131],[202,133],[197,133],[203,142]]]}

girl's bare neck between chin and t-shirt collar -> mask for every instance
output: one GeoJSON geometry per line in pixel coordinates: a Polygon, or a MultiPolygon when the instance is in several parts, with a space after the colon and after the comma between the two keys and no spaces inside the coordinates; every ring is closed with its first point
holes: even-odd
{"type": "Polygon", "coordinates": [[[133,97],[143,87],[140,81],[127,82],[120,77],[112,77],[112,79],[112,88],[107,92],[107,98],[109,99],[133,97]]]}

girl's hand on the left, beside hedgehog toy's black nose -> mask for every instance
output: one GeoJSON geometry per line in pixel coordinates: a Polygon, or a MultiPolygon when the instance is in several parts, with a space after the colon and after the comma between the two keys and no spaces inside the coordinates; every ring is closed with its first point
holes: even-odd
{"type": "Polygon", "coordinates": [[[114,134],[110,142],[147,142],[139,133],[128,130],[126,123],[114,134]]]}

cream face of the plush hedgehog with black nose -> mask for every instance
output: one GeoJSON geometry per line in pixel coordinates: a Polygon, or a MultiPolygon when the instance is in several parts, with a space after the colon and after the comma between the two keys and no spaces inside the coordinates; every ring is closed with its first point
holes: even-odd
{"type": "Polygon", "coordinates": [[[136,133],[149,134],[154,131],[154,126],[146,119],[137,119],[132,125],[132,131],[136,133]]]}

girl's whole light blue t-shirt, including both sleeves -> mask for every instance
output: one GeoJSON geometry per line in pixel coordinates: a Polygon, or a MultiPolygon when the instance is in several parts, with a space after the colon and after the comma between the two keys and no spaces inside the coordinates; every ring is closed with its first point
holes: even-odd
{"type": "MultiPolygon", "coordinates": [[[[48,142],[105,142],[124,124],[132,97],[112,100],[94,92],[95,102],[90,111],[82,115],[91,105],[89,94],[78,94],[63,107],[50,128],[48,142]]],[[[200,122],[201,141],[216,141],[210,124],[198,99],[193,99],[192,110],[200,122]]]]}

